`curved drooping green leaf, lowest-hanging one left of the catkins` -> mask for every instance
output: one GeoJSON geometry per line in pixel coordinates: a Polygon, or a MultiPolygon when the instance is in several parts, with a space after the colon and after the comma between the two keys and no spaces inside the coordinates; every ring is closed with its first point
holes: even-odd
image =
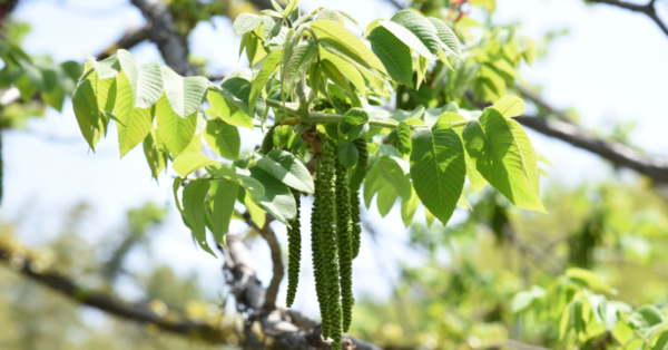
{"type": "Polygon", "coordinates": [[[193,236],[199,246],[207,253],[217,257],[206,242],[206,226],[204,224],[204,201],[210,184],[208,181],[191,181],[184,189],[184,216],[190,224],[193,236]]]}

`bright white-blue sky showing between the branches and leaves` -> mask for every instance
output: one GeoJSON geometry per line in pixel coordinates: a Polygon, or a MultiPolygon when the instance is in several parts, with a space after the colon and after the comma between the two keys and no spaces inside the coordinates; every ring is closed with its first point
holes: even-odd
{"type": "MultiPolygon", "coordinates": [[[[307,1],[306,9],[327,6],[355,16],[364,26],[377,18],[389,18],[394,8],[383,0],[307,1]]],[[[659,12],[668,18],[668,1],[657,1],[659,12]]],[[[128,28],[144,25],[138,10],[128,1],[84,0],[23,0],[16,11],[20,20],[32,25],[26,40],[30,54],[49,54],[56,60],[82,61],[81,50],[97,54],[117,40],[128,28]]],[[[533,67],[522,67],[521,72],[531,84],[540,84],[543,97],[559,108],[576,108],[582,124],[593,129],[605,129],[617,121],[637,121],[632,142],[654,155],[666,156],[668,142],[668,114],[662,107],[668,88],[668,37],[648,18],[608,6],[586,6],[581,0],[499,0],[497,23],[522,22],[522,31],[531,37],[559,29],[569,35],[558,39],[549,56],[533,67]]],[[[234,38],[229,20],[216,19],[215,28],[200,25],[190,39],[191,51],[207,57],[212,66],[227,72],[244,67],[237,61],[239,40],[234,38]]],[[[143,62],[159,61],[160,56],[153,43],[143,43],[132,52],[143,62]]],[[[160,184],[150,181],[150,173],[139,148],[121,161],[115,130],[102,140],[97,154],[88,152],[79,136],[71,105],[65,111],[50,111],[46,119],[31,121],[28,130],[4,132],[6,197],[0,208],[4,221],[18,222],[19,237],[39,244],[53,236],[62,225],[61,215],[79,202],[87,202],[92,212],[82,224],[82,232],[92,241],[111,232],[125,217],[127,208],[147,201],[163,203],[173,208],[171,173],[160,177],[160,184]]],[[[578,185],[591,179],[611,176],[610,167],[598,157],[542,135],[530,133],[536,148],[553,162],[551,176],[543,183],[558,182],[578,185]]],[[[243,147],[252,148],[259,143],[259,133],[243,132],[243,147]]],[[[304,201],[307,204],[307,201],[304,201]]],[[[396,271],[392,266],[401,255],[406,233],[399,210],[381,218],[375,210],[370,220],[382,232],[380,239],[385,261],[377,261],[367,237],[363,252],[355,261],[356,293],[374,291],[387,285],[387,276],[396,271]]],[[[458,213],[463,217],[463,213],[458,213]]],[[[308,216],[308,210],[303,210],[308,216]]],[[[282,242],[285,230],[275,226],[282,242]]],[[[237,224],[235,230],[244,230],[237,224]]],[[[179,273],[196,271],[207,288],[216,294],[223,284],[220,260],[197,251],[180,217],[171,211],[168,223],[154,235],[153,255],[168,263],[179,273]],[[210,288],[214,281],[214,288],[210,288]]],[[[258,242],[253,245],[259,276],[271,278],[268,250],[258,242]]],[[[304,242],[305,246],[310,243],[304,242]]],[[[310,265],[306,256],[303,266],[310,265]]],[[[419,261],[418,256],[402,256],[419,261]]],[[[143,254],[131,256],[132,266],[148,271],[143,254]]],[[[308,270],[308,269],[306,269],[308,270]]],[[[302,279],[308,281],[310,278],[302,279]]],[[[285,285],[282,285],[285,288],[285,285]]],[[[311,289],[306,285],[306,289],[311,289]]],[[[297,294],[297,308],[313,309],[313,293],[297,294]]],[[[131,286],[124,286],[127,296],[136,296],[131,286]]],[[[283,291],[284,292],[284,291],[283,291]]],[[[389,290],[386,291],[389,292],[389,290]]],[[[386,294],[385,294],[386,295],[386,294]]]]}

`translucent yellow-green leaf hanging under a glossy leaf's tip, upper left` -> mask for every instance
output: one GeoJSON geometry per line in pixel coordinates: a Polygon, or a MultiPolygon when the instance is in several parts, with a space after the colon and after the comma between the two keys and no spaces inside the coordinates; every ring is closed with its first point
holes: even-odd
{"type": "Polygon", "coordinates": [[[163,97],[156,105],[156,120],[158,135],[165,142],[167,149],[176,157],[193,142],[197,126],[197,110],[183,119],[169,106],[167,97],[163,97]]]}

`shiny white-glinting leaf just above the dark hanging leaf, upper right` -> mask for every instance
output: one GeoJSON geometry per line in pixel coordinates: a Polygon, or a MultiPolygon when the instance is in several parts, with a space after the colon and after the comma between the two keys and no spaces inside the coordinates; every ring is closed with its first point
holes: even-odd
{"type": "Polygon", "coordinates": [[[411,49],[429,59],[436,59],[442,43],[434,25],[423,16],[412,10],[401,10],[390,21],[381,21],[411,49]],[[396,26],[399,25],[399,26],[396,26]]]}

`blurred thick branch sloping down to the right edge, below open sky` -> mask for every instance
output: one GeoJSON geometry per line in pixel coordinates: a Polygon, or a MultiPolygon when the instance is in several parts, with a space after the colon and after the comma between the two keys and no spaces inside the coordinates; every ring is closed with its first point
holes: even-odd
{"type": "Polygon", "coordinates": [[[622,144],[599,139],[571,124],[530,116],[514,119],[541,134],[559,138],[607,158],[617,166],[631,168],[656,182],[668,184],[667,159],[651,158],[622,144]]]}

